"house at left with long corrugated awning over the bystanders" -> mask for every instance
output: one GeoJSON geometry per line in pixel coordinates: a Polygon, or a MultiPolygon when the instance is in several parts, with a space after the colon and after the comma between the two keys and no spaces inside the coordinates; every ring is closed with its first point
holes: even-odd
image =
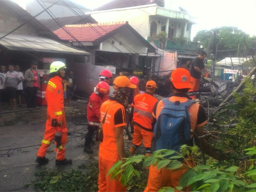
{"type": "MultiPolygon", "coordinates": [[[[61,43],[57,35],[17,3],[9,0],[0,1],[1,65],[13,63],[20,65],[21,71],[25,71],[31,67],[31,61],[38,61],[37,71],[41,76],[41,82],[45,82],[50,78],[51,62],[63,61],[71,67],[77,61],[83,60],[84,63],[89,55],[84,50],[61,43]]],[[[43,91],[40,92],[41,96],[43,91]]]]}

